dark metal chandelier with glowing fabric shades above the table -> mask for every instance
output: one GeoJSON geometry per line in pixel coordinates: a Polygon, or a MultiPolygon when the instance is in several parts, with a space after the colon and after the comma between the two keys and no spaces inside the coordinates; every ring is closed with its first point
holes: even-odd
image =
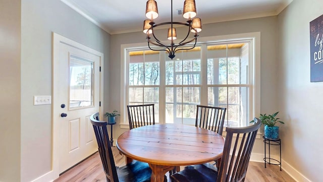
{"type": "Polygon", "coordinates": [[[168,57],[173,59],[177,51],[191,50],[195,48],[198,37],[197,33],[202,29],[201,19],[194,18],[196,16],[195,0],[185,0],[184,2],[183,17],[188,19],[186,23],[173,22],[173,0],[171,1],[171,11],[171,22],[155,24],[154,19],[158,17],[157,3],[154,0],[148,0],[146,4],[146,17],[148,19],[143,22],[143,32],[146,34],[146,39],[150,50],[166,51],[169,54],[168,57]],[[167,36],[168,43],[161,42],[154,34],[154,28],[161,25],[170,25],[167,36]],[[174,42],[174,40],[177,39],[176,29],[173,27],[174,25],[185,25],[188,27],[185,38],[177,43],[174,42]],[[190,32],[194,34],[192,37],[189,37],[190,32]],[[189,47],[183,47],[183,45],[190,42],[194,43],[191,43],[189,47]]]}

